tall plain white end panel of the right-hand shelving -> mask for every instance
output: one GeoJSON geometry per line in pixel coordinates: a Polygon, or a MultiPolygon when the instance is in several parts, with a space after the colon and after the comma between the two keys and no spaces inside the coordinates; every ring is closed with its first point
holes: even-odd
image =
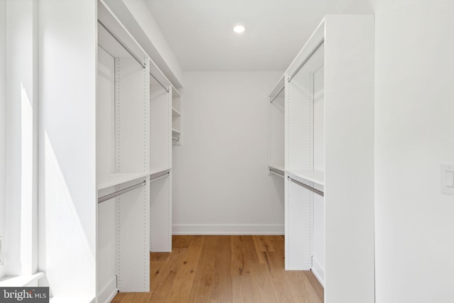
{"type": "Polygon", "coordinates": [[[325,302],[374,302],[374,17],[325,35],[325,302]]]}

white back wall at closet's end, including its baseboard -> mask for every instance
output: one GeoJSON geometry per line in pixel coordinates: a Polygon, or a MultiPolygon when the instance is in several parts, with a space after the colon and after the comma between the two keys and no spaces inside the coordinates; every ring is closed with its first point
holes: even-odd
{"type": "Polygon", "coordinates": [[[184,73],[174,233],[283,233],[282,180],[267,175],[267,95],[281,76],[184,73]]]}

